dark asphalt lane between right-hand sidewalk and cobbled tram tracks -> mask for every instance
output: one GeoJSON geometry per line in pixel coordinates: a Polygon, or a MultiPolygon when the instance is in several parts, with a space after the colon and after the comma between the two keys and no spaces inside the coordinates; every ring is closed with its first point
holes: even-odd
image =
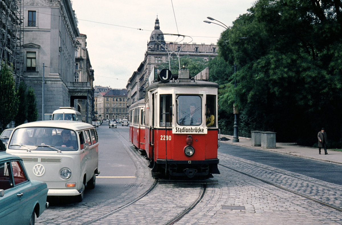
{"type": "Polygon", "coordinates": [[[222,142],[219,152],[342,185],[342,165],[222,142]]]}

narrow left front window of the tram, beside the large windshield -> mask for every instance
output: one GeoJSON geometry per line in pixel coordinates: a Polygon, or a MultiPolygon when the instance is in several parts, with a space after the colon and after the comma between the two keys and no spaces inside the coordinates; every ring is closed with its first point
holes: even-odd
{"type": "Polygon", "coordinates": [[[170,127],[172,124],[172,94],[161,94],[159,98],[159,125],[160,127],[170,127]]]}

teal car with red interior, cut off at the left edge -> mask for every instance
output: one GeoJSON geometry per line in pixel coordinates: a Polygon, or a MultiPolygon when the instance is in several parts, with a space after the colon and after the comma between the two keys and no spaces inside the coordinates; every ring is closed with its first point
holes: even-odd
{"type": "Polygon", "coordinates": [[[21,158],[0,152],[1,224],[35,224],[49,206],[47,194],[47,184],[31,181],[21,158]]]}

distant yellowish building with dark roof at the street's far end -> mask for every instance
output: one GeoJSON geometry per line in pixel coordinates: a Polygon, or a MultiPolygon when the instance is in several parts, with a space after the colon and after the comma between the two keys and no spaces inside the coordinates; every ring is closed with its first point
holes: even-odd
{"type": "Polygon", "coordinates": [[[109,89],[96,97],[97,119],[126,119],[128,100],[126,89],[109,89]]]}

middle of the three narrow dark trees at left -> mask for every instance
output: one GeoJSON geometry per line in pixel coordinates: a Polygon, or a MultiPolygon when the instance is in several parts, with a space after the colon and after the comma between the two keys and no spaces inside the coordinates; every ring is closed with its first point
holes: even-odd
{"type": "Polygon", "coordinates": [[[23,124],[27,118],[27,85],[25,82],[20,82],[18,87],[18,113],[15,116],[15,126],[23,124]]]}

